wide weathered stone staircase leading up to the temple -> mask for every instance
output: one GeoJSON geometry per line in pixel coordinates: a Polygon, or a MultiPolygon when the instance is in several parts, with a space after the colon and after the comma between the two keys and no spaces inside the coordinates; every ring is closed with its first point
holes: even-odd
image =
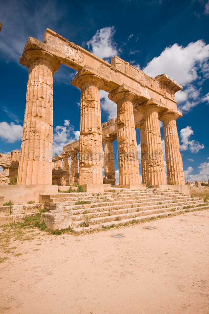
{"type": "Polygon", "coordinates": [[[47,212],[42,219],[50,229],[71,227],[77,232],[209,208],[202,198],[158,189],[57,193],[44,200],[47,212]]]}

